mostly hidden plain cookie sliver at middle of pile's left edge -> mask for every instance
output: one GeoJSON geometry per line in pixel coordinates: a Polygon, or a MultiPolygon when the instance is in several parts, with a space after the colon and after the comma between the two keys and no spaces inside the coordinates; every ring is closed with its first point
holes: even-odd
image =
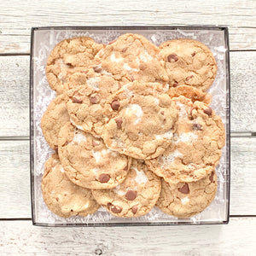
{"type": "Polygon", "coordinates": [[[49,103],[41,119],[41,128],[50,148],[58,149],[58,135],[61,127],[67,121],[69,121],[69,114],[67,113],[65,97],[63,95],[56,96],[49,103]]]}

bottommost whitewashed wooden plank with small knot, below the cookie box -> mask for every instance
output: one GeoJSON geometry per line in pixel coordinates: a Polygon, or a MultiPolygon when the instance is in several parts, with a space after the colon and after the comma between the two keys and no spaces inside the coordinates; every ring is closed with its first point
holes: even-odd
{"type": "Polygon", "coordinates": [[[228,225],[42,228],[0,222],[1,255],[255,255],[256,218],[228,225]]]}

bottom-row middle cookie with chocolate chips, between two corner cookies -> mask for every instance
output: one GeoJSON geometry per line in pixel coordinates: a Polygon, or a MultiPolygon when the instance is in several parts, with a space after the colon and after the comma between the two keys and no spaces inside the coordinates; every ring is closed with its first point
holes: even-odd
{"type": "Polygon", "coordinates": [[[160,195],[160,177],[142,160],[132,160],[125,181],[115,189],[92,190],[96,201],[117,217],[139,217],[148,213],[160,195]]]}

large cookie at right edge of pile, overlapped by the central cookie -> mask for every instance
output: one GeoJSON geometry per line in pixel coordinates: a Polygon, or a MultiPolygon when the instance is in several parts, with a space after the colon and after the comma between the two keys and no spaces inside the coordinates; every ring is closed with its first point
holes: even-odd
{"type": "Polygon", "coordinates": [[[172,143],[162,155],[146,164],[168,183],[194,182],[218,165],[225,143],[224,124],[203,102],[191,102],[184,96],[172,101],[179,108],[172,143]]]}

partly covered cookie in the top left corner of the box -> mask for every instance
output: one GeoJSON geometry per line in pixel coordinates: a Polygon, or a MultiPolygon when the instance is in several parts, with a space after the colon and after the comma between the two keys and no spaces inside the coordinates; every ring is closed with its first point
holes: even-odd
{"type": "Polygon", "coordinates": [[[92,38],[68,38],[61,41],[50,52],[45,73],[52,90],[63,93],[63,84],[70,74],[90,67],[103,44],[92,38]]]}

